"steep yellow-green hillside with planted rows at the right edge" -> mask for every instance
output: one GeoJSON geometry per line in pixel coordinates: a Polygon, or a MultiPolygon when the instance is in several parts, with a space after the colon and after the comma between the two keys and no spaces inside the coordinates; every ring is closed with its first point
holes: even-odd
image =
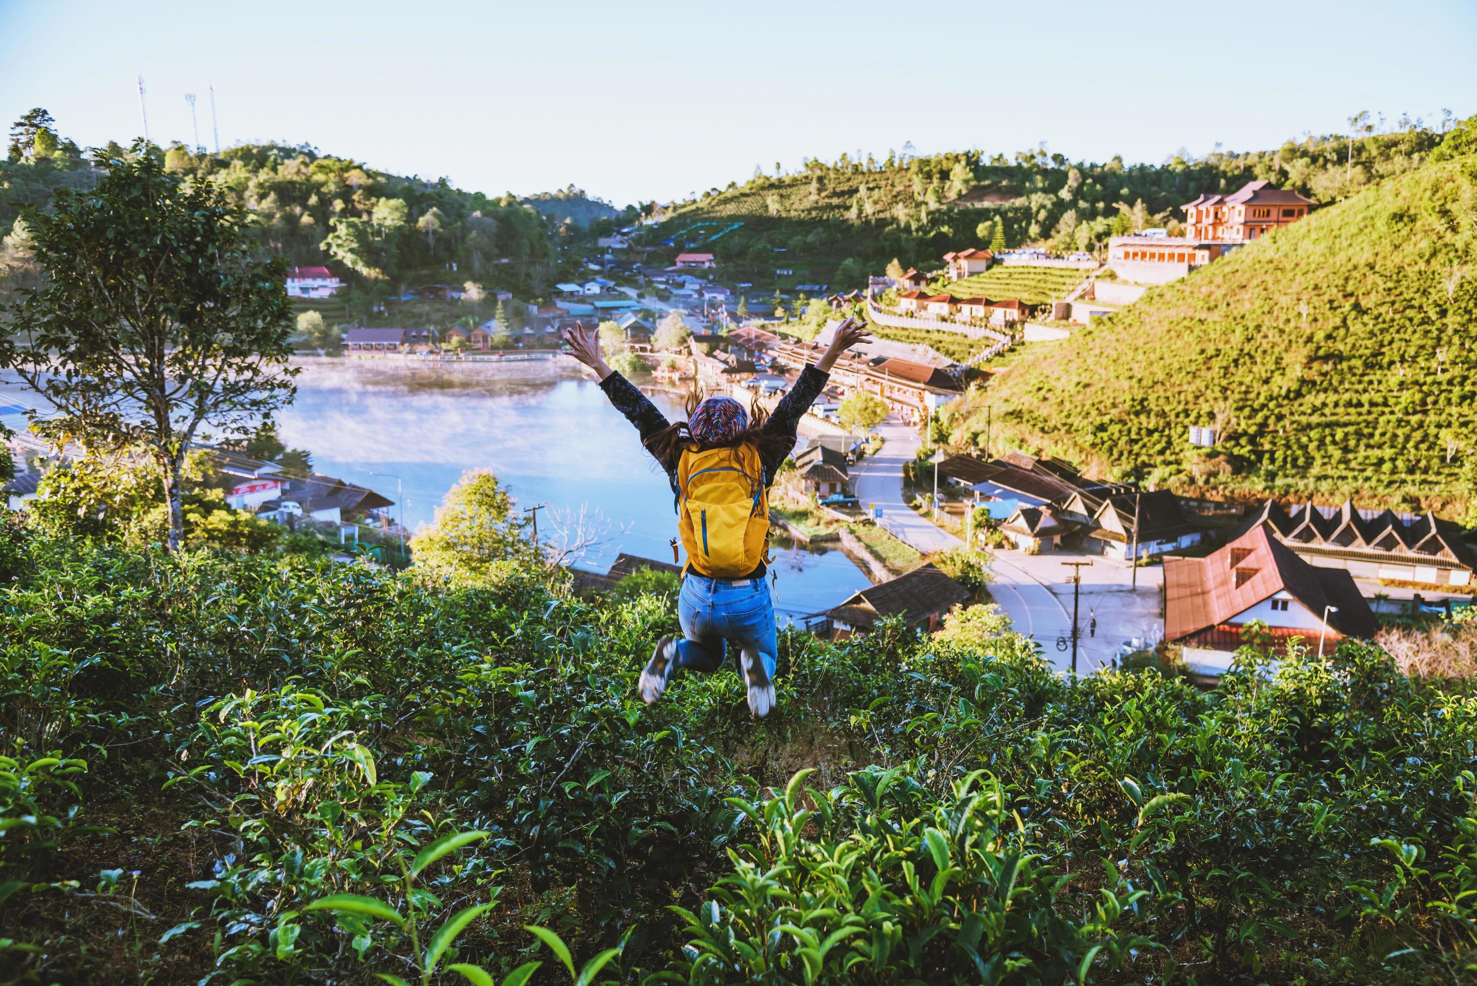
{"type": "MultiPolygon", "coordinates": [[[[1474,326],[1467,155],[1151,289],[1022,360],[979,404],[997,435],[1100,474],[1461,506],[1477,499],[1474,326]],[[1217,427],[1220,444],[1190,446],[1190,425],[1217,427]]],[[[976,415],[966,430],[984,428],[976,415]]]]}

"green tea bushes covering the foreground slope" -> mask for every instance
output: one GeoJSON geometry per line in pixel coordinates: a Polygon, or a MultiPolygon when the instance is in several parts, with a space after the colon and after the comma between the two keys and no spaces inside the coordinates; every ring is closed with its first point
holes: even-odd
{"type": "Polygon", "coordinates": [[[1477,970],[1477,700],[1375,648],[1202,694],[786,633],[755,723],[728,673],[637,700],[654,596],[10,537],[4,982],[1477,970]]]}

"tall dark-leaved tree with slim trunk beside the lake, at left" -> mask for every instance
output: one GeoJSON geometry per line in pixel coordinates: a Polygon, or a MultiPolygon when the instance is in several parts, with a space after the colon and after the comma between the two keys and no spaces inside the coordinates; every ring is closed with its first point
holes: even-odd
{"type": "Polygon", "coordinates": [[[189,187],[137,140],[87,192],[27,223],[44,283],[9,313],[9,365],[56,416],[53,441],[137,446],[158,463],[167,548],[183,534],[191,443],[250,434],[292,399],[291,303],[281,260],[256,260],[247,214],[216,185],[189,187]]]}

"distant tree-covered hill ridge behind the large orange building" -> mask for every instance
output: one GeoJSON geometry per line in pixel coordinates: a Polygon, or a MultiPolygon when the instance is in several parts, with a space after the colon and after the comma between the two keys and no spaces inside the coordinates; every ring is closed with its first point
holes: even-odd
{"type": "Polygon", "coordinates": [[[1174,232],[1189,199],[1255,179],[1328,202],[1419,167],[1440,142],[1437,130],[1402,120],[1391,131],[1357,137],[1351,161],[1337,134],[1245,154],[1185,152],[1159,165],[1072,162],[1044,149],[1010,158],[978,151],[885,161],[842,155],[806,161],[795,174],[756,168],[741,185],[709,189],[668,208],[651,242],[671,239],[674,252],[715,252],[736,279],[768,279],[781,267],[795,269],[798,280],[857,286],[894,257],[905,267],[936,267],[948,249],[988,245],[995,223],[1009,246],[1041,242],[1069,251],[1145,226],[1174,232]]]}

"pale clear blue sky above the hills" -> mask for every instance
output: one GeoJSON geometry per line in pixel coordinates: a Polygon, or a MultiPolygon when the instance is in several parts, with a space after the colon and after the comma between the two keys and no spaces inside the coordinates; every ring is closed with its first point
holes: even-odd
{"type": "Polygon", "coordinates": [[[310,142],[465,189],[623,205],[817,155],[1162,161],[1360,109],[1477,112],[1473,0],[1055,3],[35,3],[0,0],[0,117],[83,146],[142,130],[310,142]]]}

